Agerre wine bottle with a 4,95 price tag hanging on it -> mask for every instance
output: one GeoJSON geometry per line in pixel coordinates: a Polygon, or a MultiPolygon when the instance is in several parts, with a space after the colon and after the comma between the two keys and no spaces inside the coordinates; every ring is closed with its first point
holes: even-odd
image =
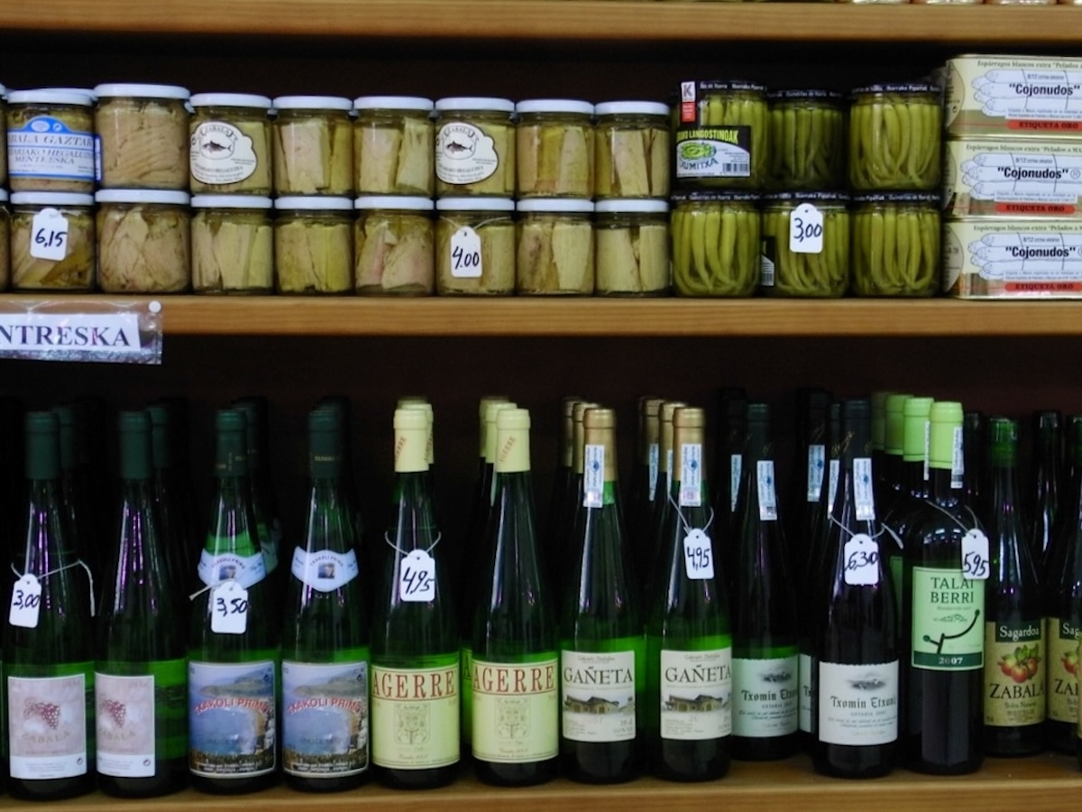
{"type": "Polygon", "coordinates": [[[459,763],[459,629],[428,480],[428,420],[396,409],[391,548],[372,617],[372,764],[386,786],[425,789],[459,763]]]}

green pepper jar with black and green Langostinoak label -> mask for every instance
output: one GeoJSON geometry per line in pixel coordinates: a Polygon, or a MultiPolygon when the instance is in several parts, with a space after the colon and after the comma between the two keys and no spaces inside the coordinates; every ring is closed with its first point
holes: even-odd
{"type": "Polygon", "coordinates": [[[747,81],[683,82],[681,99],[679,185],[761,188],[770,168],[766,88],[747,81]]]}

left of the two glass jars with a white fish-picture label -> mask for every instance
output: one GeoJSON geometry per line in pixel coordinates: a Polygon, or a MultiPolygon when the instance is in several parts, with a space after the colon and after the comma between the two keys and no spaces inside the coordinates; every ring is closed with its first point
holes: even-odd
{"type": "Polygon", "coordinates": [[[270,100],[248,93],[192,96],[192,192],[270,194],[270,100]]]}

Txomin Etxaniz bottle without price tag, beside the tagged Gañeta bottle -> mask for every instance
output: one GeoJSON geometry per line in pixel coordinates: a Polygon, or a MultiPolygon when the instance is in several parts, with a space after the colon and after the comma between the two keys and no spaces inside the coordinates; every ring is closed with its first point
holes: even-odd
{"type": "Polygon", "coordinates": [[[797,634],[778,519],[770,407],[748,404],[748,458],[737,497],[733,582],[733,757],[796,751],[797,634]]]}

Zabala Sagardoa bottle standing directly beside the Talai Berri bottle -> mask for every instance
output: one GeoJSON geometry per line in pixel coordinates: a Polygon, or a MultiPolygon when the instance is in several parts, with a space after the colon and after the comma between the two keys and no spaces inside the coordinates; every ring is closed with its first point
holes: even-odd
{"type": "Polygon", "coordinates": [[[985,605],[985,752],[1028,756],[1044,748],[1044,617],[1033,543],[1019,510],[1018,423],[989,421],[987,513],[991,575],[985,605]]]}

